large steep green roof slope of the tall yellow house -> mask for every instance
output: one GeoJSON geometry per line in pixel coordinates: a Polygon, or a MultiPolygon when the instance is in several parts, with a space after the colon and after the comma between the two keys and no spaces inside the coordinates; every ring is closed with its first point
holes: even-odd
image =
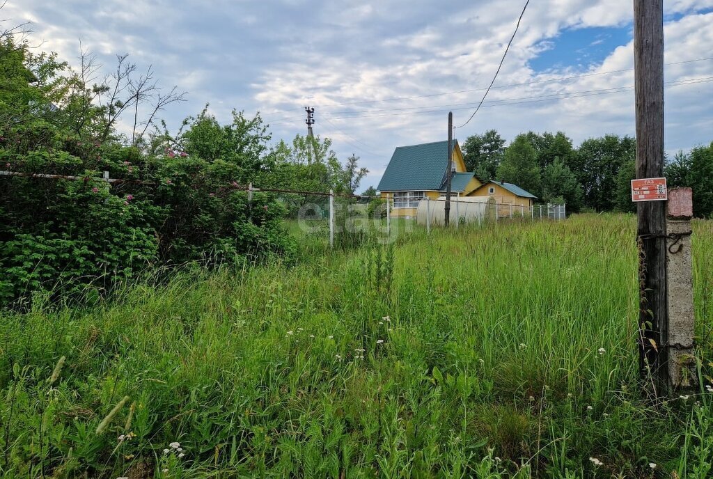
{"type": "MultiPolygon", "coordinates": [[[[458,140],[454,140],[458,145],[458,140]]],[[[455,149],[455,145],[453,148],[455,149]]],[[[399,146],[379,181],[379,191],[440,190],[448,168],[448,140],[399,146]]]]}

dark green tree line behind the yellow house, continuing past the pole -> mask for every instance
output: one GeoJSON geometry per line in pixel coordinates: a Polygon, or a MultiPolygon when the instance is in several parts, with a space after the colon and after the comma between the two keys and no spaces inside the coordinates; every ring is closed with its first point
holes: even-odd
{"type": "MultiPolygon", "coordinates": [[[[543,202],[565,202],[571,212],[635,211],[636,140],[627,135],[590,138],[575,148],[561,131],[528,131],[506,146],[488,130],[465,140],[463,157],[481,180],[515,183],[543,202]]],[[[665,175],[669,187],[692,188],[695,215],[713,215],[713,143],[667,158],[665,175]]]]}

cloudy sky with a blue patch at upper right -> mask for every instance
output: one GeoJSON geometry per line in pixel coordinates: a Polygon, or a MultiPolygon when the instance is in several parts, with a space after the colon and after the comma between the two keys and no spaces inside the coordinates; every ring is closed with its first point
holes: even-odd
{"type": "MultiPolygon", "coordinates": [[[[75,68],[81,49],[109,73],[129,53],[187,101],[161,113],[174,131],[209,104],[260,112],[272,143],[314,132],[352,153],[376,185],[394,148],[498,130],[564,131],[576,145],[634,135],[631,0],[9,0],[4,24],[75,68]]],[[[713,0],[664,0],[665,148],[713,141],[713,0]]]]}

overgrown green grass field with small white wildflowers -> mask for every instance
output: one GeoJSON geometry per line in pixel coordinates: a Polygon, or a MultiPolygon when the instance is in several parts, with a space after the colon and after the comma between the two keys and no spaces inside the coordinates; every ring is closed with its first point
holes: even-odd
{"type": "MultiPolygon", "coordinates": [[[[416,230],[4,313],[0,476],[710,477],[713,395],[641,392],[634,236],[614,215],[416,230]]],[[[693,242],[710,375],[713,223],[693,242]]]]}

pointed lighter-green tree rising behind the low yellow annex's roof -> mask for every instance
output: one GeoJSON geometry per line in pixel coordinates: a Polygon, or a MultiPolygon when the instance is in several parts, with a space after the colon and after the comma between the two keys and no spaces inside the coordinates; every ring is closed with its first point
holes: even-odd
{"type": "Polygon", "coordinates": [[[537,151],[528,141],[527,135],[518,135],[505,150],[502,163],[498,166],[497,180],[514,183],[535,196],[540,197],[540,167],[537,151]]]}

